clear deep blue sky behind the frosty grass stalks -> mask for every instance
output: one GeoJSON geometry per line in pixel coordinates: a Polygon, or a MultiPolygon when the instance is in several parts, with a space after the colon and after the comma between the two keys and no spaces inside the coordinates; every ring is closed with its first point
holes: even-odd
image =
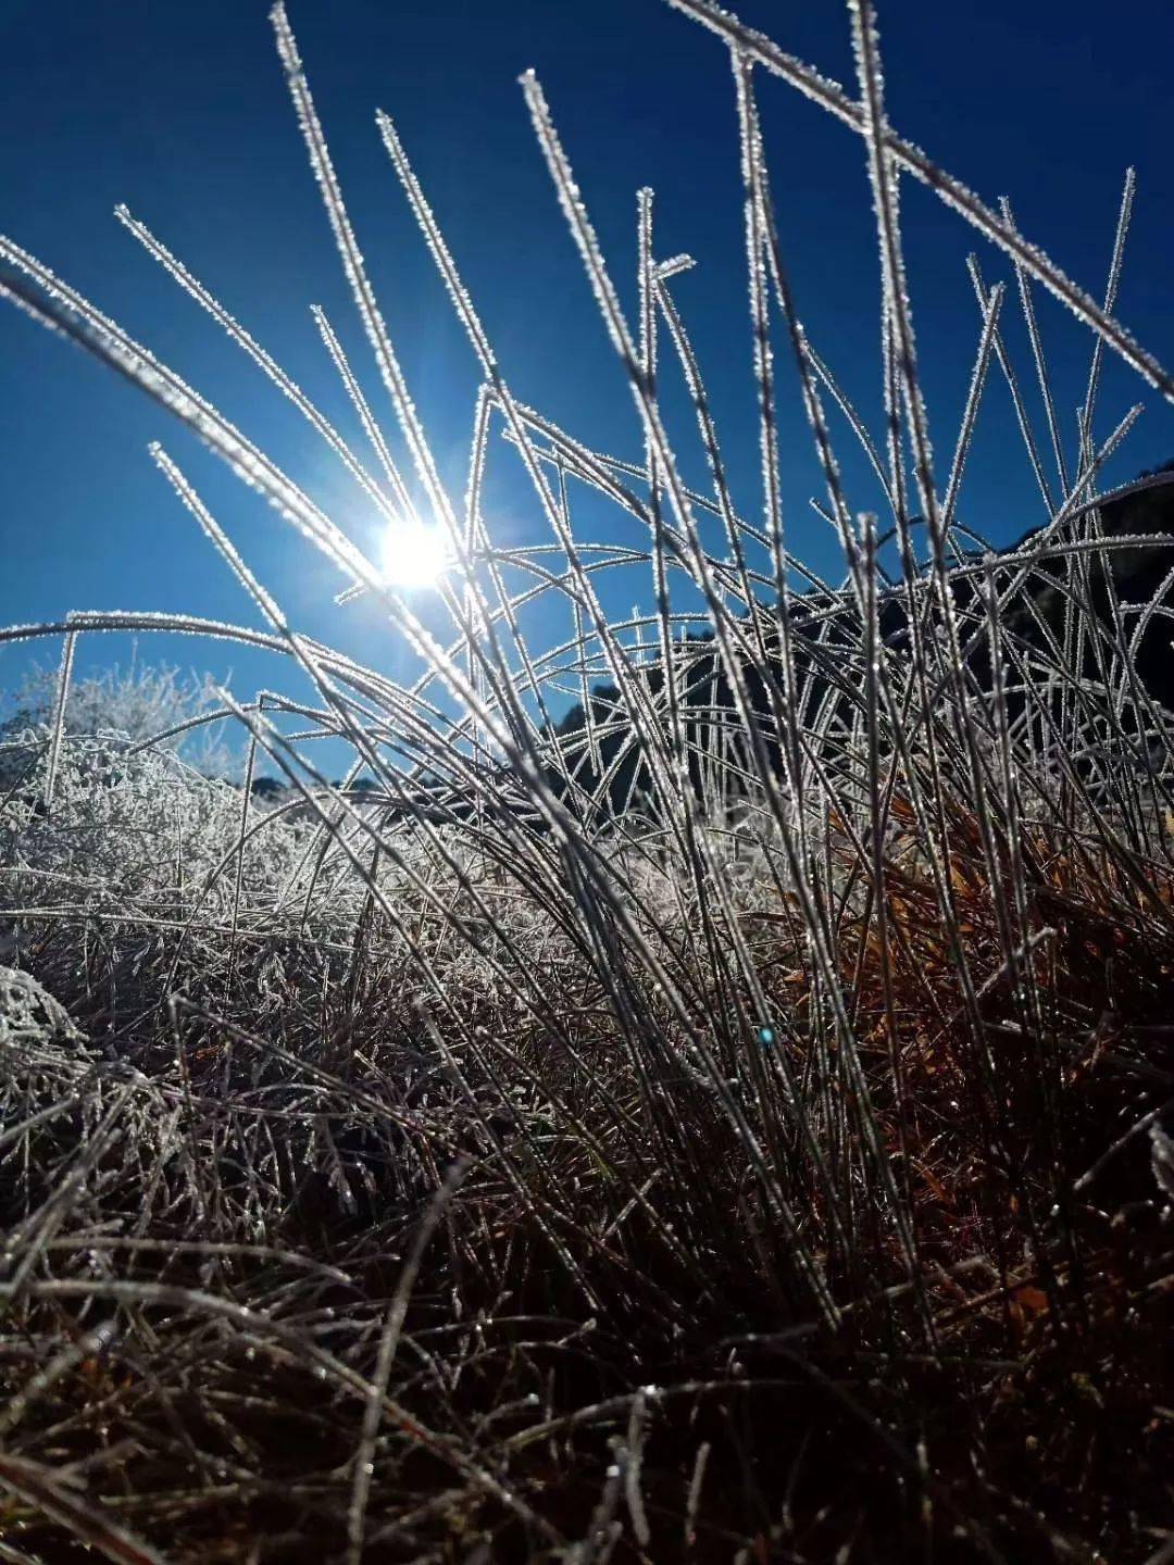
{"type": "MultiPolygon", "coordinates": [[[[744,0],[739,9],[787,50],[853,83],[837,0],[744,0]]],[[[0,0],[8,138],[0,227],[174,365],[365,540],[369,521],[346,476],[111,216],[125,200],[351,434],[308,316],[312,302],[322,304],[373,402],[387,412],[266,11],[265,0],[0,0]]],[[[291,0],[290,14],[385,318],[456,491],[476,372],[379,146],[376,106],[401,130],[515,391],[587,443],[640,454],[631,398],[521,102],[517,77],[534,66],[625,299],[634,294],[640,185],[657,192],[657,252],[687,249],[698,258],[676,297],[706,368],[739,504],[751,515],[761,501],[737,141],[728,56],[717,39],[661,0],[291,0]]],[[[1166,366],[1174,363],[1169,5],[888,0],[881,36],[897,130],[988,200],[1008,194],[1024,232],[1096,294],[1122,174],[1136,164],[1118,313],[1166,366]]],[[[764,78],[759,92],[800,311],[880,435],[878,282],[862,146],[783,83],[764,78]]],[[[975,241],[935,197],[908,182],[905,189],[916,324],[944,470],[977,341],[963,268],[975,241]]],[[[1008,279],[994,252],[980,247],[980,255],[988,280],[1008,279]]],[[[1003,319],[1038,408],[1013,305],[1008,299],[1003,319]]],[[[1091,341],[1046,296],[1038,307],[1071,435],[1091,341]]],[[[1102,437],[1143,390],[1110,366],[1102,437]]],[[[665,394],[672,404],[676,393],[667,387],[665,394]]],[[[1174,455],[1169,408],[1155,398],[1147,404],[1108,477],[1174,455]]],[[[790,541],[803,549],[809,540],[814,563],[833,570],[825,527],[806,510],[808,495],[820,490],[797,402],[787,419],[790,541]]],[[[133,388],[11,308],[0,308],[0,621],[164,609],[257,623],[146,455],[152,438],[186,468],[294,623],[388,671],[405,670],[402,648],[373,610],[332,606],[338,579],[263,501],[133,388]]],[[[704,480],[700,452],[686,466],[704,480]]],[[[859,466],[848,463],[847,473],[852,504],[875,505],[859,466]]],[[[542,537],[537,507],[523,502],[517,484],[504,477],[495,496],[499,535],[542,537]]],[[[996,541],[1041,520],[997,379],[961,513],[996,541]]],[[[584,516],[589,529],[634,537],[590,510],[584,516]]],[[[620,610],[637,592],[617,584],[615,595],[620,610]]],[[[224,648],[161,642],[158,653],[218,676],[232,665],[246,696],[283,679],[261,657],[224,648]]],[[[42,646],[41,656],[52,660],[56,648],[42,646]]],[[[92,640],[83,664],[111,656],[125,657],[125,643],[92,640]]],[[[25,657],[0,649],[0,687],[25,657]]]]}

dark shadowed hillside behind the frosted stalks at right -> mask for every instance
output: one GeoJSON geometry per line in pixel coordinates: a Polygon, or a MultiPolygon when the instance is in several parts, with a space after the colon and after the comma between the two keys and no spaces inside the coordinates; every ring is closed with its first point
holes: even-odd
{"type": "MultiPolygon", "coordinates": [[[[1005,684],[1014,715],[1025,701],[1025,682],[1046,681],[1049,667],[1058,667],[1064,656],[1064,623],[1069,604],[1085,604],[1085,624],[1093,634],[1083,637],[1080,675],[1093,685],[1104,684],[1111,664],[1107,639],[1116,639],[1119,623],[1125,640],[1138,626],[1138,609],[1169,592],[1174,573],[1174,465],[1157,474],[1144,474],[1136,484],[1116,491],[1099,507],[1077,512],[1052,534],[1044,529],[1021,537],[1008,549],[994,556],[996,584],[1005,588],[1019,577],[1017,590],[1008,598],[1000,615],[1003,631],[1005,684]],[[1154,545],[1136,546],[1111,540],[1154,537],[1154,545]],[[1107,540],[1102,549],[1097,538],[1107,540]],[[1017,563],[1030,562],[1030,563],[1017,563]],[[1091,613],[1088,612],[1091,610],[1091,613]],[[1099,634],[1104,632],[1104,634],[1099,634]]],[[[950,571],[950,593],[967,649],[966,682],[972,692],[991,689],[991,651],[985,632],[983,557],[963,557],[950,571]]],[[[941,629],[931,620],[930,632],[941,629]]],[[[797,595],[790,604],[790,631],[797,675],[795,700],[805,725],[820,721],[833,740],[836,729],[847,728],[853,714],[861,712],[864,690],[864,624],[856,599],[842,595],[797,595]]],[[[747,657],[742,676],[750,698],[750,711],[762,743],[778,767],[778,720],[786,695],[781,665],[781,631],[778,623],[762,629],[762,649],[747,657]]],[[[878,635],[891,667],[909,646],[908,595],[903,587],[884,587],[878,595],[878,635]]],[[[736,718],[731,681],[709,639],[686,642],[679,651],[678,689],[689,768],[700,787],[706,757],[715,743],[725,745],[734,767],[753,770],[750,747],[736,718]],[[725,729],[723,739],[715,739],[725,729]],[[733,751],[733,753],[731,753],[733,751]]],[[[1072,651],[1071,648],[1068,649],[1072,651]]],[[[1071,665],[1063,665],[1072,673],[1071,665]]],[[[1171,620],[1155,613],[1140,635],[1132,657],[1140,692],[1174,714],[1174,656],[1171,656],[1171,620]]],[[[656,701],[664,692],[664,670],[653,665],[640,673],[646,695],[656,701]]],[[[585,793],[601,793],[610,811],[625,809],[650,789],[653,776],[634,742],[628,709],[614,685],[596,685],[590,698],[595,734],[589,745],[587,715],[576,704],[557,726],[557,740],[567,757],[573,757],[574,779],[585,793]]],[[[664,704],[661,701],[661,704],[664,704]]],[[[559,768],[548,773],[557,792],[567,792],[559,768]]]]}

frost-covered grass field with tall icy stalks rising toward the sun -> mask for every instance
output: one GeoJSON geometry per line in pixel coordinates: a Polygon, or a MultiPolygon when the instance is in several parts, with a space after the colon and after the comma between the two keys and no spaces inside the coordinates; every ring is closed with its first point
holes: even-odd
{"type": "MultiPolygon", "coordinates": [[[[765,479],[750,520],[673,300],[687,258],[656,260],[642,194],[628,322],[532,78],[643,459],[600,455],[515,401],[380,117],[485,374],[468,493],[445,491],[274,11],[398,438],[452,551],[445,645],[239,430],[0,241],[25,279],[0,290],[197,429],[421,664],[396,684],[301,635],[161,449],[266,629],[89,613],[8,632],[61,637],[64,656],[0,768],[3,959],[72,1022],[30,1002],[0,1034],[3,1557],[1168,1557],[1174,800],[1169,717],[1136,678],[1165,588],[1121,601],[1094,504],[1129,426],[1094,444],[1105,347],[1171,391],[1113,319],[1132,182],[1097,305],[889,130],[869,5],[852,8],[856,102],[709,0],[673,3],[734,50],[765,479]],[[880,444],[783,285],[751,64],[862,138],[880,444]],[[897,166],[1010,255],[1033,346],[1035,283],[1091,329],[1079,449],[1043,360],[1028,366],[1055,430],[1050,452],[1050,434],[1030,441],[1053,520],[1016,554],[974,552],[955,521],[974,415],[1003,372],[1003,291],[980,285],[971,402],[936,484],[897,166]],[[783,551],[770,335],[809,415],[842,585],[783,551]],[[654,358],[693,393],[706,495],[679,477],[654,358]],[[894,584],[880,524],[842,491],[833,402],[875,460],[894,584]],[[493,548],[495,432],[553,545],[493,548]],[[648,524],[643,556],[576,537],[579,485],[648,524]],[[701,516],[722,526],[720,557],[701,516]],[[645,651],[600,607],[598,571],[621,567],[651,576],[645,651]],[[678,640],[686,590],[712,642],[678,640]],[[565,606],[564,645],[526,642],[526,595],[565,606]],[[80,714],[77,639],[152,628],[269,646],[316,704],[218,696],[172,714],[158,745],[80,714]],[[684,700],[700,659],[728,692],[708,709],[684,700]],[[589,701],[556,743],[557,692],[598,676],[607,711],[589,701]],[[244,787],[167,748],[177,723],[225,712],[244,787]],[[646,782],[618,817],[603,809],[614,734],[646,782]],[[316,765],[324,736],[352,751],[343,784],[316,765]],[[285,781],[277,801],[250,789],[261,772],[285,781]]],[[[416,526],[330,324],[379,477],[124,221],[388,523],[416,526]]]]}

